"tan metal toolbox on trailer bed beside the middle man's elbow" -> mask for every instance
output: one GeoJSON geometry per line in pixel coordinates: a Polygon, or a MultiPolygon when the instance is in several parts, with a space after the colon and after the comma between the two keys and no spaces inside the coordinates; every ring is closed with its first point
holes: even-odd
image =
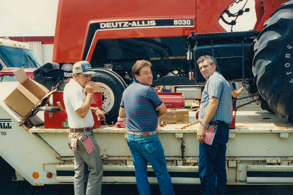
{"type": "Polygon", "coordinates": [[[173,120],[178,122],[189,122],[189,114],[186,108],[183,109],[168,109],[167,114],[159,118],[159,124],[165,120],[173,120]]]}

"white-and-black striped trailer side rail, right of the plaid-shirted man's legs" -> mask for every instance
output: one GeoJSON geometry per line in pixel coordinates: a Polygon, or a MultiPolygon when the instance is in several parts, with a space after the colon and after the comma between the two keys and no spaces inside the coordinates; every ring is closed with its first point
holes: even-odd
{"type": "Polygon", "coordinates": [[[247,165],[247,183],[293,183],[293,166],[247,165]]]}

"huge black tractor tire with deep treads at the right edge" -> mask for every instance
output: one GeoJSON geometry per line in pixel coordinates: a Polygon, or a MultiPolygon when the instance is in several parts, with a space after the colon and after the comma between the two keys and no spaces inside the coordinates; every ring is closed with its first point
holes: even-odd
{"type": "Polygon", "coordinates": [[[293,1],[277,9],[254,45],[253,75],[268,106],[293,122],[293,1]]]}

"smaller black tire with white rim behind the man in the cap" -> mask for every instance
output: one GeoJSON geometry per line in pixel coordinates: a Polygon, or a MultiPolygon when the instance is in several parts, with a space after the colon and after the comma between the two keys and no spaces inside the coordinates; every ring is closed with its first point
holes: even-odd
{"type": "Polygon", "coordinates": [[[94,68],[97,74],[92,75],[91,80],[96,83],[95,92],[102,92],[102,108],[108,112],[106,123],[115,124],[118,118],[122,93],[127,85],[124,80],[115,72],[105,68],[94,68]]]}

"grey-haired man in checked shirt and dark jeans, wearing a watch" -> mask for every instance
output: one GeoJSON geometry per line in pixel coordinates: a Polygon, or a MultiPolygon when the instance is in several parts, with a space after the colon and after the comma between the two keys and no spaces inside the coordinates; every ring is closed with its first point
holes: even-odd
{"type": "Polygon", "coordinates": [[[225,194],[226,143],[228,125],[232,122],[232,99],[229,83],[217,72],[217,62],[212,56],[198,58],[200,73],[207,80],[202,92],[200,109],[196,118],[201,121],[197,132],[199,144],[198,173],[202,194],[225,194]],[[205,144],[204,134],[208,124],[217,126],[212,145],[205,144]]]}

